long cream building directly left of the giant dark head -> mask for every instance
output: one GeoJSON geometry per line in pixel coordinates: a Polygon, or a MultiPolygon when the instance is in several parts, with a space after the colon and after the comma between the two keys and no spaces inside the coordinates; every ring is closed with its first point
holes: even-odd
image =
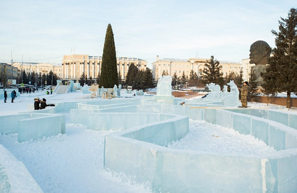
{"type": "MultiPolygon", "coordinates": [[[[204,64],[206,61],[210,61],[210,58],[190,58],[190,59],[159,59],[152,63],[152,73],[155,80],[159,79],[163,71],[167,72],[168,75],[173,76],[176,73],[177,77],[181,78],[183,72],[185,75],[190,77],[191,70],[197,73],[198,78],[201,78],[202,71],[204,69],[204,64]]],[[[235,74],[240,74],[241,64],[231,63],[225,61],[219,61],[222,65],[222,72],[224,77],[230,72],[235,74]]]]}

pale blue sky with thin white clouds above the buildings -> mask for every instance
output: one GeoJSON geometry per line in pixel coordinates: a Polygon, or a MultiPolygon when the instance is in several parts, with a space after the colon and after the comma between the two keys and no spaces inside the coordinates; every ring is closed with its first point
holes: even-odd
{"type": "Polygon", "coordinates": [[[108,23],[117,57],[241,62],[257,40],[275,47],[271,30],[292,7],[296,0],[0,0],[0,62],[11,51],[15,62],[102,56],[108,23]]]}

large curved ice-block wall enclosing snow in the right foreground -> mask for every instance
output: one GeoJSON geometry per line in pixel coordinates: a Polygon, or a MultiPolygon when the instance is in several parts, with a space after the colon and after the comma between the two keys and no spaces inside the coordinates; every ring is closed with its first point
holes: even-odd
{"type": "MultiPolygon", "coordinates": [[[[278,151],[267,157],[257,157],[221,155],[203,152],[202,149],[169,150],[164,147],[169,139],[162,136],[171,136],[174,129],[163,128],[174,128],[173,125],[176,124],[168,122],[163,123],[164,125],[146,126],[146,129],[126,129],[107,135],[104,152],[106,170],[124,174],[133,182],[149,184],[153,192],[157,193],[281,193],[297,190],[297,132],[283,124],[286,123],[286,115],[271,113],[271,119],[279,119],[279,123],[265,119],[269,117],[269,112],[255,113],[263,115],[264,118],[260,118],[235,113],[233,110],[191,106],[160,105],[157,108],[153,105],[138,105],[137,110],[184,113],[196,120],[205,120],[244,134],[252,134],[278,151]],[[125,151],[121,151],[122,149],[125,151]]],[[[289,118],[288,123],[292,124],[289,118]]]]}

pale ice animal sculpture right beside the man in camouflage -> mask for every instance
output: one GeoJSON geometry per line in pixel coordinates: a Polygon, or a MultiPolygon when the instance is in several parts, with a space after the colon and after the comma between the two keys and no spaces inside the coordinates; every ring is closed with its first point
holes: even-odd
{"type": "Polygon", "coordinates": [[[223,89],[223,107],[238,107],[239,105],[239,90],[233,80],[230,80],[227,85],[230,86],[230,92],[227,91],[227,86],[223,89]]]}

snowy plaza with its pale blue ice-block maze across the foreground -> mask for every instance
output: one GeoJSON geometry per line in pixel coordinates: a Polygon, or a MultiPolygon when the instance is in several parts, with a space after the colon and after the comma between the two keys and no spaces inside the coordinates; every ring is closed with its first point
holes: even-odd
{"type": "MultiPolygon", "coordinates": [[[[0,102],[1,117],[54,112],[65,124],[64,134],[23,142],[18,132],[2,131],[1,182],[9,193],[296,190],[296,110],[261,103],[223,109],[195,99],[182,106],[185,99],[152,97],[36,92],[0,102]],[[30,111],[37,96],[56,106],[30,111]]],[[[44,121],[50,116],[35,118],[34,127],[56,127],[44,121]]]]}

